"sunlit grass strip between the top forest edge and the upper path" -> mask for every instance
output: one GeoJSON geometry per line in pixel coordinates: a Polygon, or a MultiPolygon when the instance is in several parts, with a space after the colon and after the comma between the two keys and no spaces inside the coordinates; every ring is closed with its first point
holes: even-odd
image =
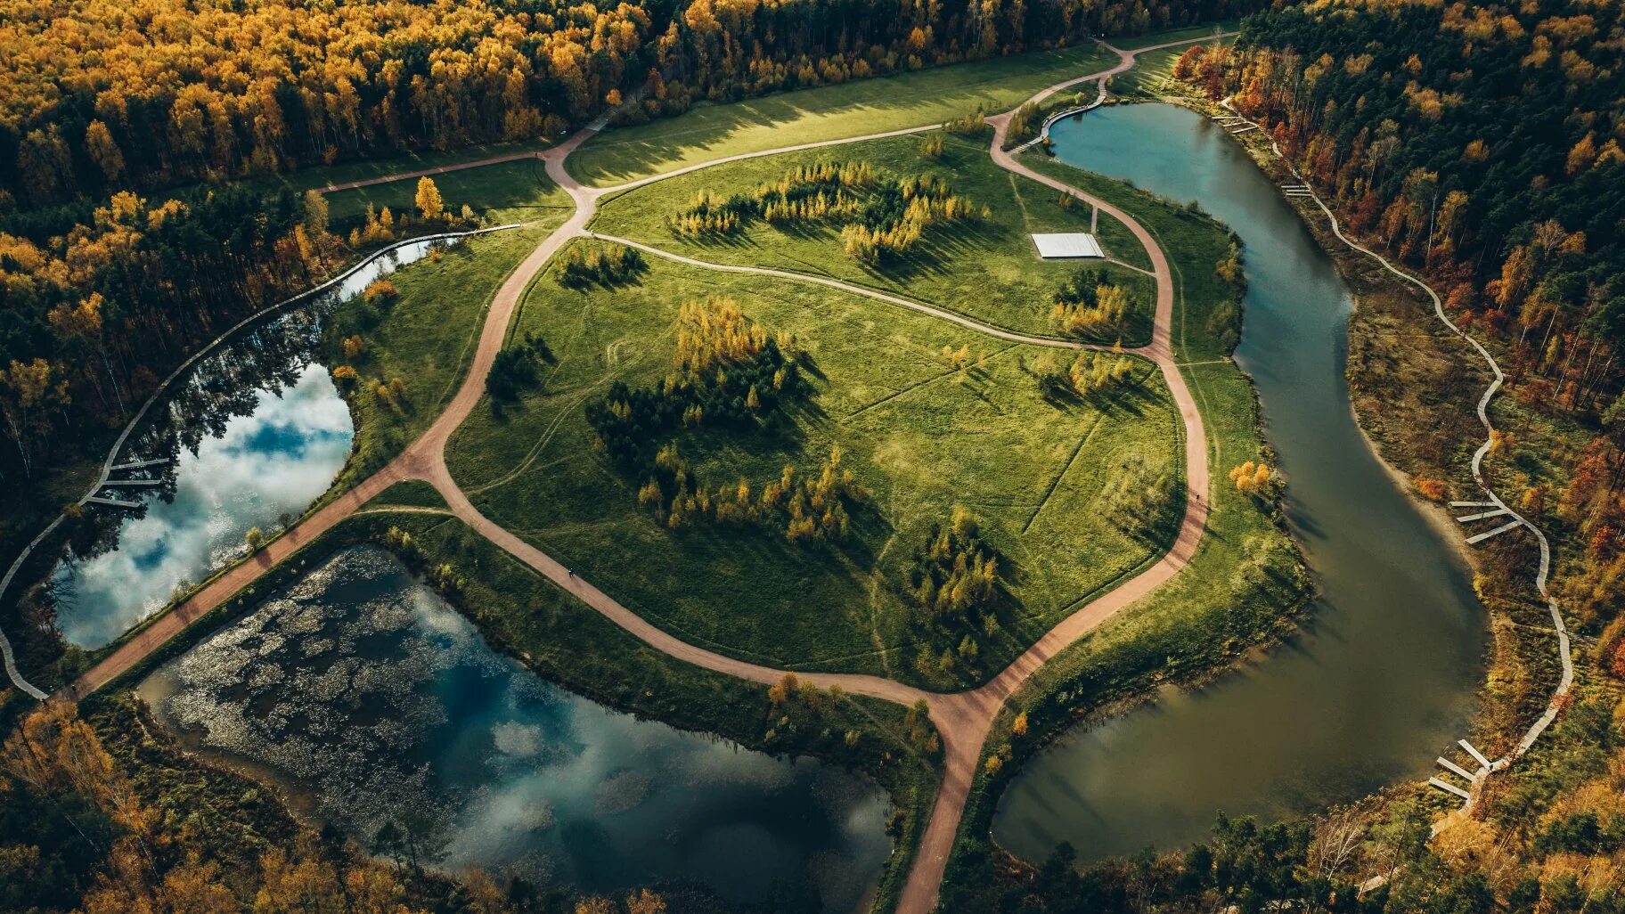
{"type": "Polygon", "coordinates": [[[1116,55],[1089,42],[707,104],[678,117],[606,130],[572,155],[569,168],[585,184],[609,185],[722,156],[941,124],[978,107],[1014,107],[1051,83],[1115,62],[1116,55]]]}

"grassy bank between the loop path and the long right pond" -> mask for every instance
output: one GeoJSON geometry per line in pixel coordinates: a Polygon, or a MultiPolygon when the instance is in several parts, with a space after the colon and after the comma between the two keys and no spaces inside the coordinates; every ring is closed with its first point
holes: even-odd
{"type": "Polygon", "coordinates": [[[952,909],[977,909],[986,893],[999,891],[994,868],[1003,852],[986,836],[999,792],[1022,761],[1090,716],[1162,683],[1196,681],[1290,631],[1308,594],[1274,504],[1225,480],[1230,467],[1268,459],[1251,382],[1228,361],[1240,289],[1214,273],[1228,255],[1228,233],[1124,184],[1038,155],[1029,155],[1029,164],[1133,213],[1167,252],[1178,293],[1175,353],[1202,408],[1214,488],[1207,533],[1191,564],[1050,660],[1004,706],[983,758],[1001,756],[1003,764],[978,768],[949,865],[942,898],[952,909]],[[1014,732],[1017,714],[1025,714],[1025,735],[1014,732]]]}

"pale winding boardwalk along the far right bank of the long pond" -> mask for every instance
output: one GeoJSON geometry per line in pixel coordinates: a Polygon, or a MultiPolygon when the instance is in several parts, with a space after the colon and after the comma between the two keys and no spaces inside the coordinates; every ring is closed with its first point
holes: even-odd
{"type": "MultiPolygon", "coordinates": [[[[1259,130],[1264,128],[1263,124],[1258,124],[1256,120],[1251,120],[1250,117],[1235,111],[1235,106],[1230,104],[1230,99],[1224,99],[1220,106],[1224,106],[1225,111],[1233,112],[1238,119],[1258,127],[1259,130]]],[[[1495,423],[1490,421],[1490,400],[1493,400],[1495,394],[1500,392],[1502,384],[1506,382],[1506,376],[1502,374],[1502,366],[1495,361],[1495,356],[1492,356],[1490,351],[1485,350],[1482,343],[1474,340],[1466,330],[1458,327],[1456,322],[1450,319],[1450,316],[1445,312],[1445,302],[1438,298],[1438,293],[1433,291],[1433,286],[1427,285],[1427,281],[1422,280],[1420,276],[1414,276],[1401,270],[1399,267],[1394,267],[1381,254],[1346,236],[1342,233],[1342,224],[1337,221],[1337,216],[1331,211],[1331,207],[1328,207],[1326,202],[1321,200],[1320,194],[1315,190],[1315,185],[1303,179],[1297,166],[1292,164],[1292,159],[1289,159],[1285,153],[1280,151],[1280,143],[1271,140],[1269,145],[1276,151],[1276,158],[1279,158],[1280,163],[1287,166],[1287,171],[1292,172],[1292,177],[1298,179],[1300,182],[1303,182],[1303,187],[1310,189],[1308,197],[1315,200],[1315,205],[1320,207],[1320,211],[1326,215],[1326,221],[1331,226],[1331,233],[1337,236],[1337,241],[1342,241],[1352,250],[1358,250],[1360,254],[1365,254],[1367,257],[1376,260],[1376,263],[1383,270],[1393,273],[1394,276],[1399,276],[1401,280],[1427,293],[1428,299],[1433,302],[1433,316],[1438,317],[1438,320],[1445,327],[1450,327],[1451,333],[1466,340],[1467,345],[1472,346],[1480,358],[1484,358],[1485,364],[1490,366],[1490,372],[1495,376],[1495,381],[1492,381],[1490,385],[1484,390],[1484,395],[1479,397],[1477,415],[1479,415],[1479,423],[1484,424],[1484,444],[1480,444],[1479,449],[1472,452],[1472,481],[1479,485],[1479,490],[1492,503],[1495,503],[1497,507],[1500,507],[1503,512],[1511,516],[1514,522],[1521,524],[1524,529],[1534,533],[1536,542],[1540,545],[1540,569],[1536,572],[1534,585],[1536,590],[1540,592],[1540,597],[1545,600],[1547,610],[1552,613],[1552,629],[1557,633],[1558,660],[1562,660],[1562,668],[1563,668],[1562,675],[1558,677],[1557,688],[1552,690],[1552,699],[1547,703],[1545,711],[1540,714],[1540,717],[1537,717],[1534,724],[1529,725],[1523,738],[1518,740],[1516,748],[1513,748],[1502,758],[1497,758],[1495,761],[1490,763],[1488,768],[1490,771],[1502,771],[1503,768],[1511,764],[1513,759],[1529,751],[1529,746],[1532,746],[1536,740],[1540,738],[1540,733],[1544,733],[1545,729],[1550,727],[1554,720],[1557,720],[1557,716],[1563,709],[1563,703],[1568,698],[1568,691],[1575,685],[1575,662],[1570,657],[1571,652],[1568,644],[1568,625],[1563,623],[1563,613],[1557,607],[1557,600],[1547,590],[1547,576],[1552,571],[1552,545],[1547,542],[1545,532],[1542,532],[1540,527],[1537,527],[1534,522],[1531,522],[1518,511],[1513,511],[1510,504],[1502,501],[1502,496],[1495,494],[1495,490],[1484,477],[1484,459],[1488,455],[1490,446],[1495,441],[1495,423]]],[[[1482,777],[1476,779],[1474,786],[1477,786],[1480,781],[1482,777]]],[[[1477,802],[1479,795],[1480,795],[1479,790],[1472,792],[1472,795],[1467,799],[1467,808],[1471,808],[1472,803],[1477,802]]]]}

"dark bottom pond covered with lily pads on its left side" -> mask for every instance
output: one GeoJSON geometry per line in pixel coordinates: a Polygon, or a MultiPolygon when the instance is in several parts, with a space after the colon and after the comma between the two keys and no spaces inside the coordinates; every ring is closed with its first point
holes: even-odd
{"type": "Polygon", "coordinates": [[[890,854],[864,777],[637,720],[494,652],[382,550],[353,546],[141,683],[166,727],[370,846],[618,891],[694,880],[847,912],[890,854]]]}

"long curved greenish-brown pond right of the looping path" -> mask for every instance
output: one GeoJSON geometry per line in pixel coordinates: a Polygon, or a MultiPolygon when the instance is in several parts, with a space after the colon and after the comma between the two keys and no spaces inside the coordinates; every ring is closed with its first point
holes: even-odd
{"type": "Polygon", "coordinates": [[[1198,200],[1242,237],[1250,288],[1237,361],[1258,385],[1321,598],[1306,629],[1264,660],[1063,735],[1006,789],[994,839],[1034,860],[1061,841],[1100,859],[1199,841],[1220,810],[1274,820],[1425,777],[1467,733],[1487,618],[1461,556],[1355,424],[1349,289],[1297,211],[1206,117],[1105,107],[1051,137],[1061,161],[1198,200]]]}

